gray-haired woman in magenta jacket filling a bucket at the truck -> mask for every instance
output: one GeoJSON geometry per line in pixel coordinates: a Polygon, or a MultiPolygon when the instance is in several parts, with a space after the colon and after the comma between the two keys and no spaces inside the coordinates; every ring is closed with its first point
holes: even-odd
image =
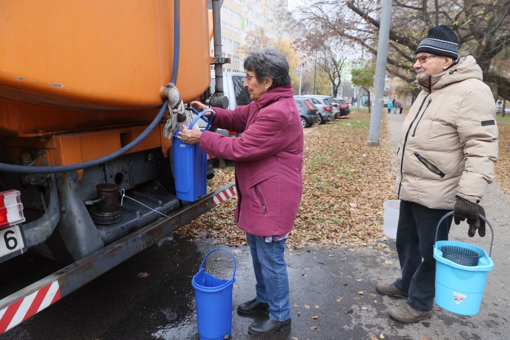
{"type": "MultiPolygon", "coordinates": [[[[214,108],[212,123],[241,137],[184,128],[179,138],[236,161],[234,219],[246,231],[257,279],[256,297],[240,304],[238,312],[250,315],[268,308],[268,317],[253,322],[248,331],[269,334],[291,326],[284,251],[303,191],[303,128],[285,57],[274,48],[255,51],[246,56],[244,68],[244,87],[253,101],[233,111],[214,108]]],[[[198,101],[191,105],[208,109],[198,101]]]]}

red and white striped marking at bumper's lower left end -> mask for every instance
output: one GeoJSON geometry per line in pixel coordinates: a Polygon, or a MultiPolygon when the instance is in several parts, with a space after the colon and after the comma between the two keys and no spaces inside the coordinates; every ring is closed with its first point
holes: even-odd
{"type": "Polygon", "coordinates": [[[0,310],[0,334],[60,300],[59,281],[54,281],[40,290],[0,310]]]}

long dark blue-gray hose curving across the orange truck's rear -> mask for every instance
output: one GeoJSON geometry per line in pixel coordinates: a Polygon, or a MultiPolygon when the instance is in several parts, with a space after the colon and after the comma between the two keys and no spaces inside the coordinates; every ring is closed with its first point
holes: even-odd
{"type": "MultiPolygon", "coordinates": [[[[173,20],[173,26],[174,26],[174,39],[173,39],[173,66],[172,66],[172,80],[171,82],[175,84],[175,81],[177,80],[177,69],[179,68],[179,48],[180,48],[180,0],[174,0],[173,3],[173,10],[174,10],[174,20],[173,20]]],[[[127,144],[126,146],[118,149],[115,152],[112,152],[110,154],[107,154],[103,157],[100,157],[98,159],[87,161],[83,163],[78,164],[71,164],[71,165],[59,165],[59,166],[50,166],[50,167],[32,167],[32,166],[25,166],[25,165],[13,165],[13,164],[5,164],[0,163],[0,171],[6,171],[6,172],[18,172],[18,173],[56,173],[56,172],[68,172],[68,171],[76,171],[80,169],[90,168],[95,165],[100,165],[103,163],[106,163],[108,161],[111,161],[122,154],[126,153],[127,151],[133,149],[135,146],[140,144],[141,141],[147,137],[148,134],[156,127],[156,125],[159,124],[161,119],[163,118],[166,109],[168,108],[168,103],[165,100],[163,102],[163,105],[161,106],[160,111],[158,112],[158,115],[152,122],[143,130],[143,132],[135,138],[131,143],[127,144]]]]}

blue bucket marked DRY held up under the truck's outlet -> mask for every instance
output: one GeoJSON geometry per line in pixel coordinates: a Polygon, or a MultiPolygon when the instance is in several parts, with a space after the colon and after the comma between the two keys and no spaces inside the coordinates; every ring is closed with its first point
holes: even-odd
{"type": "MultiPolygon", "coordinates": [[[[198,113],[194,109],[192,111],[197,114],[197,117],[190,124],[189,128],[192,128],[197,120],[201,118],[208,122],[205,128],[205,130],[208,130],[213,121],[213,112],[205,110],[198,113]],[[209,120],[203,117],[203,114],[206,112],[211,112],[209,120]]],[[[203,152],[198,144],[182,142],[177,138],[179,131],[181,130],[176,130],[172,138],[175,196],[178,199],[193,202],[198,197],[207,193],[207,153],[203,152]]]]}

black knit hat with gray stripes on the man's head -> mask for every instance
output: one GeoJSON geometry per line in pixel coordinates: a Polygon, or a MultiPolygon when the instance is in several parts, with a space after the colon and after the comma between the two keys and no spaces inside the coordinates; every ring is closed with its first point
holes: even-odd
{"type": "Polygon", "coordinates": [[[420,52],[428,52],[436,56],[458,58],[458,38],[455,32],[447,25],[438,25],[428,30],[427,37],[423,39],[415,55],[420,52]]]}

